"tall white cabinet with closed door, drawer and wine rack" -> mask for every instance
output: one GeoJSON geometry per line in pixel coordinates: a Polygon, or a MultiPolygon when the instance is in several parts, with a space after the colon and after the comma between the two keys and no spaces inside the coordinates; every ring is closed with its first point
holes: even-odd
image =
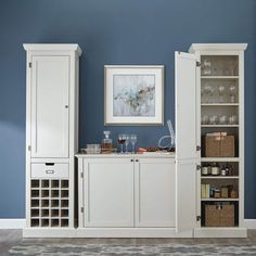
{"type": "Polygon", "coordinates": [[[26,227],[74,227],[74,155],[78,151],[78,44],[26,50],[26,227]]]}

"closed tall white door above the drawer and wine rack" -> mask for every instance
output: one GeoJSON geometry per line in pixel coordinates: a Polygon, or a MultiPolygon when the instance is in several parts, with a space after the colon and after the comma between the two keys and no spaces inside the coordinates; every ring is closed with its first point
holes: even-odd
{"type": "Polygon", "coordinates": [[[68,157],[68,56],[33,56],[31,157],[68,157]]]}

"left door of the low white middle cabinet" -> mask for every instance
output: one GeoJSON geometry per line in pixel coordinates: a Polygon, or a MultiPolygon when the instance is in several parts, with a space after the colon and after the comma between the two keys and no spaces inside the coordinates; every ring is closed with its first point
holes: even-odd
{"type": "Polygon", "coordinates": [[[85,227],[133,227],[133,162],[85,159],[85,227]]]}

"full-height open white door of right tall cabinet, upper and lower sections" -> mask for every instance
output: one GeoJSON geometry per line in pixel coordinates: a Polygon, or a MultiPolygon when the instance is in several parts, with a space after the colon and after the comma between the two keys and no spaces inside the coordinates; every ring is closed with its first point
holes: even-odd
{"type": "Polygon", "coordinates": [[[176,52],[176,227],[193,230],[196,215],[196,60],[176,52]]]}

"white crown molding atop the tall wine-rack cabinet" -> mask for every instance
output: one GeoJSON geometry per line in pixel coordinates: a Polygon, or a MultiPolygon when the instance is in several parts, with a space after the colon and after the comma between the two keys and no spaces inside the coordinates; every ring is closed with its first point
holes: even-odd
{"type": "Polygon", "coordinates": [[[80,56],[82,51],[77,43],[23,43],[26,51],[75,51],[80,56]]]}

